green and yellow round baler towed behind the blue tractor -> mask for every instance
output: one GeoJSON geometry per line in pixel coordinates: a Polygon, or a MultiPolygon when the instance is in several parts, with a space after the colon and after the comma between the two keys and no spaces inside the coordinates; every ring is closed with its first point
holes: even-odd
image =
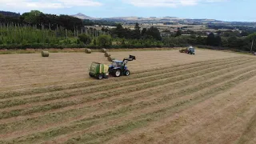
{"type": "Polygon", "coordinates": [[[109,78],[109,66],[98,62],[92,62],[89,69],[90,77],[102,79],[109,78]]]}

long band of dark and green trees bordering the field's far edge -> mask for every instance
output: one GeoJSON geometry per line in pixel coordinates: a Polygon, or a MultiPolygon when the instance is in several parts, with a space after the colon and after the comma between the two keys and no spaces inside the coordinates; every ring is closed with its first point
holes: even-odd
{"type": "MultiPolygon", "coordinates": [[[[238,30],[217,31],[204,37],[203,32],[182,31],[163,36],[157,27],[134,29],[115,24],[116,28],[86,29],[79,18],[68,15],[43,14],[32,10],[20,16],[0,14],[0,49],[14,48],[62,48],[62,47],[174,47],[174,46],[218,46],[250,51],[255,39],[251,32],[238,30]],[[183,36],[182,34],[191,34],[183,36]]],[[[92,25],[91,23],[90,25],[92,25]]],[[[102,22],[102,25],[107,23],[102,22]]],[[[255,45],[252,47],[255,50],[255,45]]]]}

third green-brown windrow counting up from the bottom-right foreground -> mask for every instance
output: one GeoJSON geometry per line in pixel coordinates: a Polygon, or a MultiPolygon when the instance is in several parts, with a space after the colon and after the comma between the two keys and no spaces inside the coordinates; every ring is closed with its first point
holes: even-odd
{"type": "MultiPolygon", "coordinates": [[[[247,63],[246,66],[250,66],[250,63],[247,63]]],[[[142,91],[142,92],[139,92],[137,94],[128,94],[126,95],[125,97],[118,97],[118,98],[114,98],[112,101],[106,101],[106,102],[100,102],[96,105],[93,105],[93,106],[84,106],[82,107],[82,109],[79,109],[79,113],[76,112],[75,114],[76,115],[73,115],[72,117],[76,118],[78,117],[78,114],[88,114],[92,111],[95,111],[95,110],[98,110],[98,109],[104,109],[104,107],[107,107],[107,106],[118,106],[118,105],[123,105],[123,104],[126,104],[127,102],[134,102],[134,101],[138,101],[139,99],[141,98],[148,98],[154,94],[158,94],[158,93],[164,93],[166,91],[169,91],[169,90],[179,90],[179,89],[182,89],[182,88],[186,88],[187,85],[189,84],[192,84],[192,83],[197,83],[197,82],[201,82],[207,78],[214,78],[216,76],[221,76],[222,74],[225,74],[227,72],[230,72],[230,71],[236,71],[236,70],[239,70],[241,68],[246,68],[244,65],[242,66],[239,66],[239,65],[236,65],[236,66],[227,66],[226,68],[224,69],[221,69],[221,70],[213,70],[209,73],[206,73],[206,74],[201,74],[200,76],[197,76],[197,77],[193,77],[193,78],[188,78],[188,79],[185,79],[185,81],[179,81],[179,82],[176,82],[176,83],[170,83],[170,84],[167,84],[167,85],[162,85],[160,86],[158,89],[152,89],[152,90],[146,90],[146,91],[142,91]]],[[[54,105],[53,105],[54,106],[54,105]]],[[[61,122],[62,119],[65,119],[63,118],[63,116],[67,116],[67,115],[70,115],[70,114],[74,114],[73,112],[74,110],[68,110],[66,111],[66,113],[58,113],[58,115],[61,115],[62,117],[59,117],[57,116],[56,114],[54,114],[54,118],[46,118],[45,117],[42,117],[42,118],[37,118],[36,122],[34,122],[33,118],[32,119],[26,119],[26,122],[22,121],[22,122],[13,122],[13,123],[8,123],[8,124],[2,124],[0,125],[0,134],[2,133],[6,133],[6,132],[10,132],[10,130],[18,130],[20,128],[20,126],[28,126],[28,127],[31,127],[31,126],[34,126],[36,125],[37,123],[40,123],[40,122],[43,122],[43,123],[47,123],[47,122],[61,122]]],[[[24,112],[23,112],[24,113],[24,112]]],[[[52,115],[48,115],[48,117],[51,117],[52,115]]],[[[70,119],[71,120],[71,119],[70,119]]]]}

